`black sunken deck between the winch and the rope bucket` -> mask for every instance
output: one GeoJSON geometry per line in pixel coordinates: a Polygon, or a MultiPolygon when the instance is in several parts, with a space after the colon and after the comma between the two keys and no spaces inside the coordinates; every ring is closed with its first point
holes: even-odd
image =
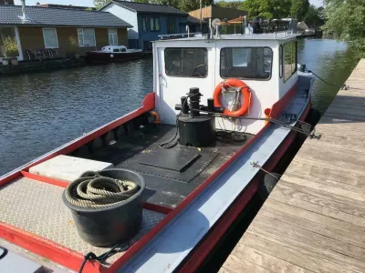
{"type": "Polygon", "coordinates": [[[222,136],[219,138],[224,142],[218,140],[214,147],[201,149],[164,148],[160,145],[172,140],[176,126],[129,126],[127,131],[130,133],[121,136],[115,144],[83,157],[139,172],[147,185],[144,200],[164,207],[176,207],[253,137],[245,134],[240,136],[242,140],[231,141],[222,136]],[[179,158],[193,158],[192,164],[179,158]],[[186,169],[180,171],[185,166],[186,169]]]}

